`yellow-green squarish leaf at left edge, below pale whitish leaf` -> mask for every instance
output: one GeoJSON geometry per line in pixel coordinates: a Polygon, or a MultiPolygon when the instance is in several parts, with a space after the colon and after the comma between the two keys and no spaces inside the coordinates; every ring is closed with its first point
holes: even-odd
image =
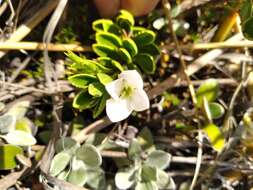
{"type": "Polygon", "coordinates": [[[23,149],[14,145],[0,146],[0,170],[10,170],[17,166],[16,155],[23,154],[23,149]]]}

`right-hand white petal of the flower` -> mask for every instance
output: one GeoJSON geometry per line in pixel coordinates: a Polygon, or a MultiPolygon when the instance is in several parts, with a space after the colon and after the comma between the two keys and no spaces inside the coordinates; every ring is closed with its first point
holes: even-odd
{"type": "Polygon", "coordinates": [[[128,101],[134,111],[144,111],[149,108],[148,95],[142,89],[135,89],[128,101]]]}

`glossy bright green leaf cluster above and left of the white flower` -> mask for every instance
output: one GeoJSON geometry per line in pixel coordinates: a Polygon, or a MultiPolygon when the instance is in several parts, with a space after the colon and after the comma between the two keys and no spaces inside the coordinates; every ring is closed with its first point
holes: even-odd
{"type": "Polygon", "coordinates": [[[91,109],[93,117],[99,116],[109,98],[105,85],[123,70],[135,69],[140,73],[155,72],[155,58],[160,53],[155,45],[155,33],[135,26],[133,16],[121,10],[115,21],[99,19],[93,22],[96,43],[92,49],[97,58],[90,60],[72,52],[66,53],[73,61],[73,72],[68,80],[81,89],[73,101],[79,110],[91,109]]]}

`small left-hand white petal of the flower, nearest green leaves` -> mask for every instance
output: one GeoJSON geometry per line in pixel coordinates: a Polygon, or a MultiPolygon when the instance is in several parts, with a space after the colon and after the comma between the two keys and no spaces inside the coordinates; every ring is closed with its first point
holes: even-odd
{"type": "Polygon", "coordinates": [[[107,85],[105,85],[106,91],[111,95],[113,99],[118,99],[120,97],[120,92],[124,88],[123,80],[117,79],[107,85]]]}

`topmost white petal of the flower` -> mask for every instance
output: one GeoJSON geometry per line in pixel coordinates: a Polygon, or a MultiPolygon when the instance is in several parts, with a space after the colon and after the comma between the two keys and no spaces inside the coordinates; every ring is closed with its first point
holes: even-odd
{"type": "Polygon", "coordinates": [[[123,71],[120,73],[119,78],[124,79],[128,85],[131,85],[134,88],[143,88],[143,80],[136,70],[123,71]]]}

